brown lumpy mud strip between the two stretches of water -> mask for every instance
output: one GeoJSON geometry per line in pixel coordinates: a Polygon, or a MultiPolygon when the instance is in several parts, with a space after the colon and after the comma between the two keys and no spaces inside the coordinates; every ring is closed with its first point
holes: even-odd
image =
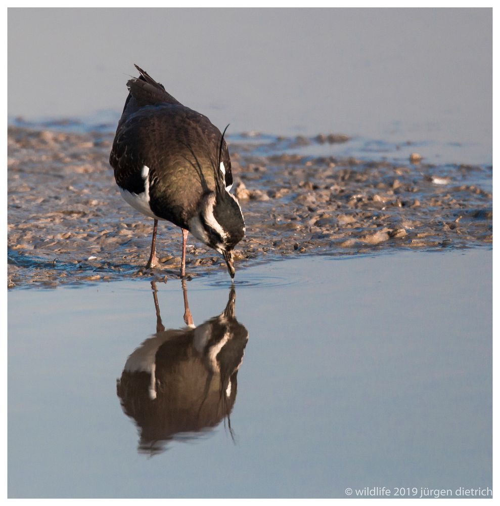
{"type": "MultiPolygon", "coordinates": [[[[178,276],[181,234],[168,222],[158,229],[161,268],[142,267],[153,222],[121,199],[108,164],[112,140],[109,128],[10,126],[9,288],[178,276]]],[[[349,142],[321,134],[229,137],[247,226],[237,271],[304,254],[491,247],[491,166],[337,156],[349,142]],[[325,147],[331,154],[310,154],[325,147]]],[[[190,276],[225,269],[190,238],[190,276]]]]}

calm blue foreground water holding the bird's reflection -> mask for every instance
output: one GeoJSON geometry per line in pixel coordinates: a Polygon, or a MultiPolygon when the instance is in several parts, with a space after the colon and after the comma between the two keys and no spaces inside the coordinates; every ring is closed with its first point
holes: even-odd
{"type": "Polygon", "coordinates": [[[178,280],[156,285],[161,322],[145,280],[11,291],[9,496],[491,488],[491,260],[254,265],[237,273],[236,320],[216,273],[187,283],[195,330],[178,280]]]}

